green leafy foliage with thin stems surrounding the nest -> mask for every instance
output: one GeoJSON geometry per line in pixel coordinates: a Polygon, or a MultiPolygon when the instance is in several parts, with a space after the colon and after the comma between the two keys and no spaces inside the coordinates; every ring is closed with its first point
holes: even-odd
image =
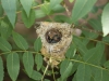
{"type": "Polygon", "coordinates": [[[95,5],[97,0],[68,1],[74,2],[72,11],[68,10],[63,0],[41,0],[41,3],[37,0],[0,0],[0,81],[3,81],[5,73],[3,60],[7,60],[12,81],[17,81],[20,69],[29,80],[36,81],[51,81],[45,76],[53,76],[53,81],[71,81],[70,78],[72,81],[109,81],[109,60],[105,57],[105,45],[109,45],[109,2],[100,8],[95,5]],[[98,9],[102,10],[102,13],[97,18],[87,19],[88,13],[96,13],[98,9]],[[59,15],[63,12],[66,12],[68,16],[59,15]],[[57,71],[55,68],[48,69],[48,64],[47,67],[44,65],[40,38],[34,41],[32,50],[26,38],[14,30],[17,14],[21,14],[26,28],[31,28],[35,19],[48,16],[46,21],[65,22],[75,26],[78,26],[78,21],[83,18],[93,30],[87,31],[87,25],[80,25],[84,29],[82,36],[72,35],[72,43],[65,58],[58,66],[60,71],[57,71]],[[20,67],[20,60],[23,63],[23,69],[20,67]]]}

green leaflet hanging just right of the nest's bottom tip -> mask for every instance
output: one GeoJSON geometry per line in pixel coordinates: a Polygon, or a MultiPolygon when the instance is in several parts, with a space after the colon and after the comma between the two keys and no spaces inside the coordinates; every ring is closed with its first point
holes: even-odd
{"type": "Polygon", "coordinates": [[[60,65],[60,73],[62,81],[66,79],[72,70],[73,64],[69,60],[63,60],[60,65]]]}

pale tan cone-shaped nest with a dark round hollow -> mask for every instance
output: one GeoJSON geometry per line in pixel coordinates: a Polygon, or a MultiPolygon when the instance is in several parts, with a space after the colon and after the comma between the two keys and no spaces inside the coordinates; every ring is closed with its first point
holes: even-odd
{"type": "Polygon", "coordinates": [[[51,66],[57,66],[64,59],[64,54],[72,42],[72,28],[68,23],[36,23],[36,33],[40,37],[43,48],[41,54],[48,63],[51,57],[51,66]]]}

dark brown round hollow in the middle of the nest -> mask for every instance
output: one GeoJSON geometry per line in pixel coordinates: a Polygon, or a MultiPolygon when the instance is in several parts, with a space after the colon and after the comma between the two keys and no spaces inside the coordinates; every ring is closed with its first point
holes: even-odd
{"type": "Polygon", "coordinates": [[[50,29],[46,32],[48,43],[57,43],[61,40],[62,33],[58,29],[50,29]]]}

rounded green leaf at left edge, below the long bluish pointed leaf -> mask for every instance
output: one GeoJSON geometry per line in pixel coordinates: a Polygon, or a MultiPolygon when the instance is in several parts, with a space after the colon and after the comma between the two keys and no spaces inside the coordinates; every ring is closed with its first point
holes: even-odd
{"type": "Polygon", "coordinates": [[[5,22],[1,22],[0,33],[1,37],[8,39],[11,36],[12,27],[10,27],[5,22]]]}

